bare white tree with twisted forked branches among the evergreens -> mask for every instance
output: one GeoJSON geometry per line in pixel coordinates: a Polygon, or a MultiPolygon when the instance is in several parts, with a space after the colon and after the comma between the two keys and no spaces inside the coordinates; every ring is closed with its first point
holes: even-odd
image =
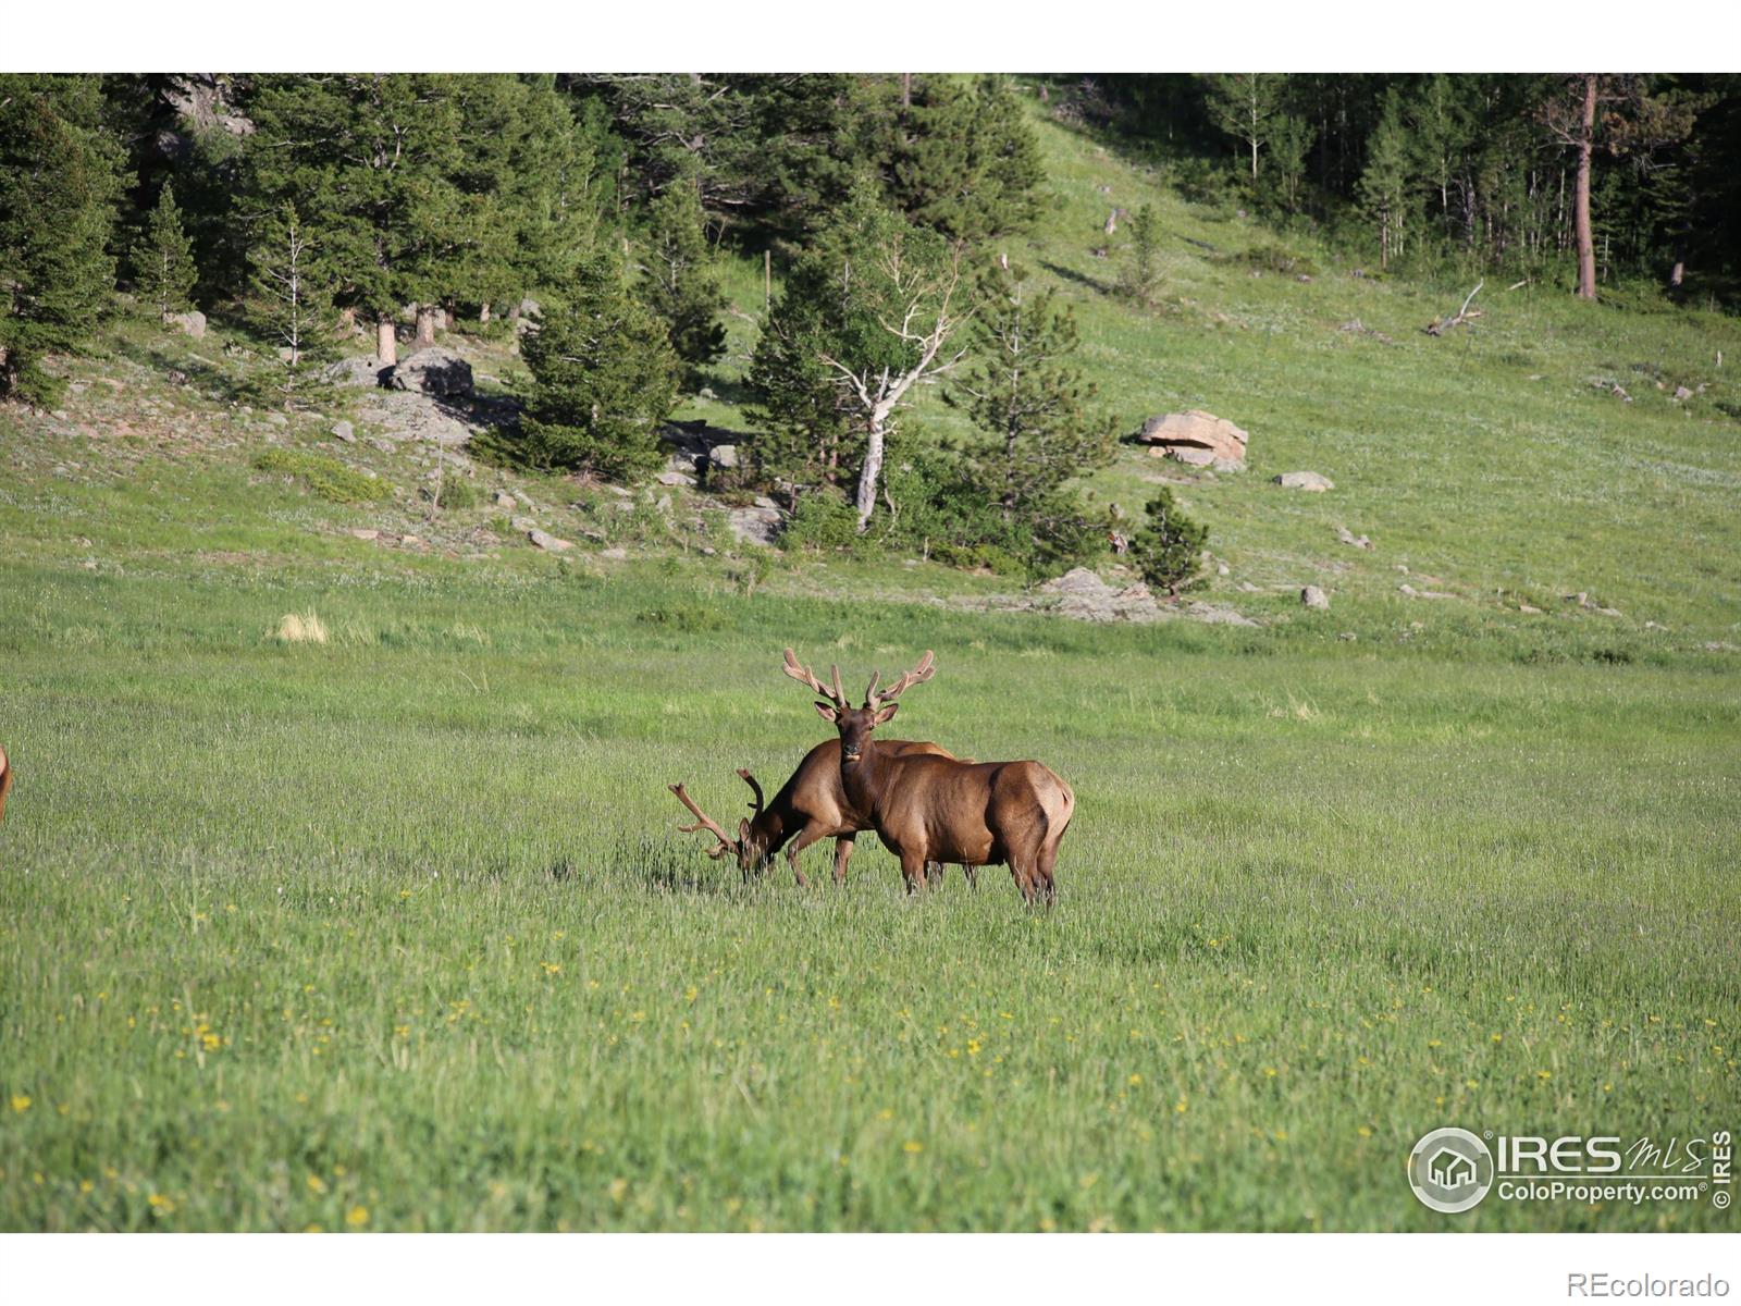
{"type": "MultiPolygon", "coordinates": [[[[971,317],[971,305],[963,305],[961,296],[961,247],[951,249],[942,265],[930,259],[904,259],[902,254],[902,244],[890,242],[872,258],[874,275],[883,282],[877,298],[893,308],[890,313],[876,313],[876,324],[890,334],[891,343],[904,347],[904,359],[898,364],[867,364],[827,352],[818,355],[837,373],[836,387],[843,407],[864,423],[865,460],[853,500],[860,533],[870,524],[876,508],[895,411],[911,402],[914,387],[935,385],[968,352],[966,347],[951,348],[956,333],[971,317]]],[[[851,275],[848,263],[841,270],[843,293],[850,293],[851,275]]]]}

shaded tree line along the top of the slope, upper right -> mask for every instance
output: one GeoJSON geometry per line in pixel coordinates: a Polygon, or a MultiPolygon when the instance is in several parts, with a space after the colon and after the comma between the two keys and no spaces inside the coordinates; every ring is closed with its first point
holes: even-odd
{"type": "Polygon", "coordinates": [[[1741,289],[1736,75],[1125,75],[1074,94],[1196,195],[1381,270],[1741,289]]]}

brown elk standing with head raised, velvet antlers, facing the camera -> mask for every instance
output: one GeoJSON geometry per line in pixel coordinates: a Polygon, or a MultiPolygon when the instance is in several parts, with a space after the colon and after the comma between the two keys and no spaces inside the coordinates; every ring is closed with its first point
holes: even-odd
{"type": "Polygon", "coordinates": [[[830,667],[832,684],[823,684],[787,650],[783,670],[827,700],[817,702],[817,712],[839,730],[841,789],[900,858],[909,893],[919,890],[928,862],[1003,862],[1029,904],[1053,902],[1052,867],[1076,813],[1076,794],[1055,771],[1036,761],[970,763],[898,754],[872,738],[900,707],[895,698],[937,672],[930,650],[919,665],[884,690],[877,690],[883,674],[872,674],[864,707],[846,700],[839,667],[830,667]]]}

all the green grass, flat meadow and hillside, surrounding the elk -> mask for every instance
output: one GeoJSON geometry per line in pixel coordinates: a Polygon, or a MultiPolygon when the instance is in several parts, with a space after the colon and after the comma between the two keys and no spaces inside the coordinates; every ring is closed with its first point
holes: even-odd
{"type": "MultiPolygon", "coordinates": [[[[1121,428],[1252,432],[1243,475],[1165,474],[1259,629],[978,611],[1020,582],[481,465],[581,540],[540,554],[489,495],[430,519],[423,449],[244,411],[223,324],[118,322],[64,411],[0,411],[0,1229],[1734,1228],[1438,1215],[1403,1165],[1440,1125],[1741,1123],[1741,331],[1489,286],[1428,338],[1468,287],[1302,239],[1313,280],[1267,272],[1283,237],[1038,125],[1015,256],[1121,428]],[[1090,251],[1144,199],[1215,251],[1137,313],[1090,251]],[[1003,869],[909,900],[872,836],[844,892],[827,846],[743,885],[679,834],[667,784],[731,818],[736,766],[823,737],[787,644],[858,683],[935,648],[895,733],[1069,778],[1057,907],[1003,869]]],[[[686,414],[742,428],[731,329],[686,414]]]]}

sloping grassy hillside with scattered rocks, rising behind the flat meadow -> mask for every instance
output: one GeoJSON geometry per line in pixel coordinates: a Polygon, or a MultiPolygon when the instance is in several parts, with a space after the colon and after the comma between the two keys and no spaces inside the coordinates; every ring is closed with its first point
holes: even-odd
{"type": "MultiPolygon", "coordinates": [[[[1386,282],[1327,259],[1306,240],[1186,204],[1153,167],[1034,108],[1050,174],[1045,216],[1010,252],[1074,306],[1081,362],[1118,430],[1201,407],[1252,434],[1243,475],[1194,474],[1123,446],[1118,463],[1092,479],[1099,500],[1139,517],[1158,479],[1179,489],[1227,566],[1205,597],[1276,620],[1295,615],[1302,585],[1321,585],[1334,604],[1330,618],[1313,622],[1323,639],[1344,630],[1398,636],[1421,622],[1429,627],[1422,639],[1499,630],[1508,648],[1544,655],[1600,648],[1637,656],[1734,636],[1741,387],[1731,378],[1741,329],[1732,319],[1583,305],[1549,286],[1487,286],[1475,301],[1480,319],[1433,338],[1422,326],[1454,312],[1468,287],[1386,282]],[[1102,235],[1109,209],[1140,204],[1156,205],[1165,232],[1154,312],[1111,294],[1125,237],[1102,235]],[[1678,387],[1694,394],[1677,399],[1678,387]],[[1301,468],[1328,475],[1335,491],[1299,495],[1271,484],[1274,474],[1301,468]],[[1349,549],[1337,528],[1375,547],[1349,549]],[[1412,589],[1455,597],[1408,601],[1400,587],[1422,575],[1412,589]],[[1574,594],[1586,594],[1590,608],[1569,603],[1574,594]],[[1546,616],[1520,615],[1520,606],[1546,616]],[[1593,608],[1621,616],[1593,618],[1593,608]]],[[[759,261],[733,263],[731,289],[729,353],[709,378],[724,399],[691,399],[677,416],[747,430],[729,401],[740,395],[761,313],[759,261]]],[[[432,557],[484,552],[491,566],[548,566],[521,547],[489,493],[475,496],[477,507],[418,526],[413,489],[427,474],[428,449],[374,449],[367,423],[359,423],[362,442],[339,446],[329,428],[355,401],[319,420],[275,425],[282,420],[226,399],[259,362],[232,357],[223,329],[190,341],[132,324],[117,326],[106,341],[94,357],[66,362],[78,394],[56,414],[0,414],[10,482],[0,510],[14,566],[89,557],[103,569],[143,561],[131,557],[141,547],[221,557],[219,568],[378,557],[345,542],[345,528],[421,535],[437,545],[432,557]],[[174,385],[172,373],[188,383],[174,385]],[[334,508],[287,491],[282,477],[251,467],[275,446],[319,448],[367,468],[397,488],[397,500],[390,508],[334,508]],[[143,477],[172,488],[169,502],[136,495],[143,477]]],[[[446,343],[475,355],[484,388],[524,383],[505,338],[451,334],[446,343]]],[[[912,439],[968,434],[935,390],[907,421],[912,439]]],[[[475,484],[493,491],[528,482],[486,465],[475,484]]],[[[576,559],[611,545],[634,545],[635,555],[682,550],[684,535],[700,543],[700,528],[684,524],[674,535],[656,512],[566,515],[571,502],[602,510],[595,493],[543,484],[531,496],[552,510],[557,535],[581,538],[576,559]],[[581,531],[606,540],[588,545],[581,531]]],[[[714,547],[729,552],[728,540],[714,547]]],[[[688,566],[703,578],[731,562],[691,557],[688,566]]],[[[1012,589],[930,566],[818,571],[810,559],[766,583],[776,592],[834,583],[879,594],[1012,589]]]]}

